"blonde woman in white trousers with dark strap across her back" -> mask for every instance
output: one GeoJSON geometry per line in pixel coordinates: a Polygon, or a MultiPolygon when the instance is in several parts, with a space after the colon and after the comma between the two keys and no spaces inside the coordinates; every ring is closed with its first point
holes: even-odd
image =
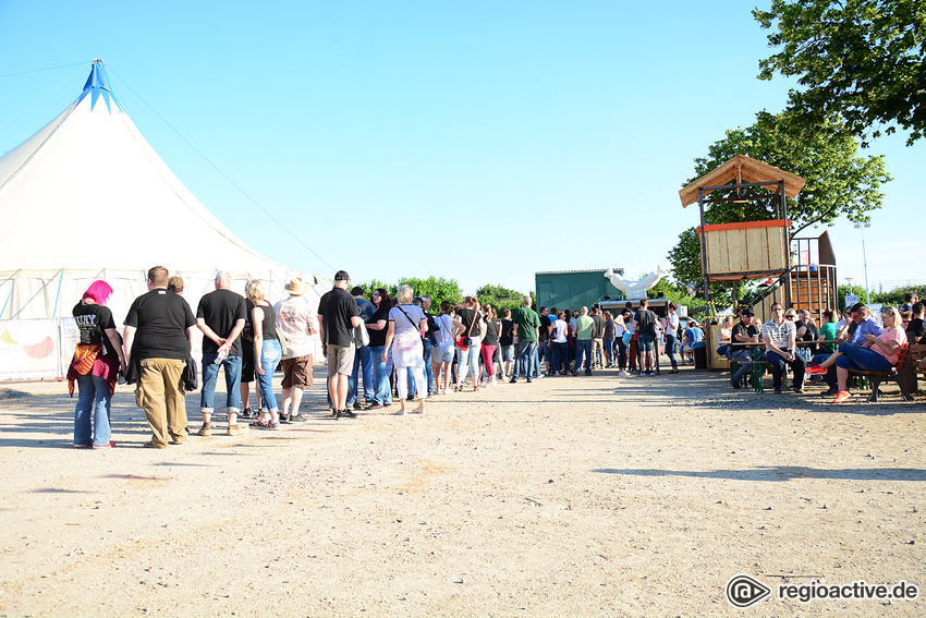
{"type": "Polygon", "coordinates": [[[386,334],[386,350],[382,361],[386,361],[387,350],[392,346],[392,364],[395,366],[395,381],[399,389],[399,411],[397,415],[405,414],[405,400],[409,398],[409,372],[415,376],[415,388],[418,395],[418,407],[412,412],[425,413],[425,397],[428,389],[425,383],[425,356],[422,334],[427,332],[428,319],[421,307],[412,304],[415,292],[411,286],[402,286],[395,294],[398,306],[389,310],[389,331],[386,334]]]}

